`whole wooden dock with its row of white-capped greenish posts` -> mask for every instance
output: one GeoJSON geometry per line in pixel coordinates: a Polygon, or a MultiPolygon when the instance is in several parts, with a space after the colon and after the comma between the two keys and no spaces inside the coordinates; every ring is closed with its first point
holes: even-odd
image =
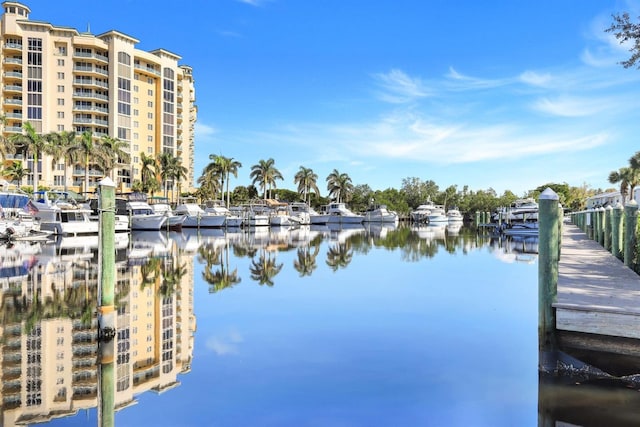
{"type": "MultiPolygon", "coordinates": [[[[635,239],[622,237],[621,209],[606,216],[575,213],[567,223],[555,197],[545,190],[540,199],[539,369],[620,380],[640,390],[640,275],[631,264],[635,239]]],[[[634,235],[637,205],[628,208],[625,231],[634,235]]]]}

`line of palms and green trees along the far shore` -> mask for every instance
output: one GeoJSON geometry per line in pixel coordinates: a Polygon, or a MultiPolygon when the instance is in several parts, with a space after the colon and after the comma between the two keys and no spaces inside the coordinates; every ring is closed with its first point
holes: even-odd
{"type": "Polygon", "coordinates": [[[303,201],[313,207],[332,201],[346,202],[353,210],[359,212],[371,205],[383,204],[389,209],[408,214],[418,205],[431,200],[446,207],[455,206],[462,212],[470,214],[477,211],[491,212],[497,207],[509,206],[519,198],[537,199],[547,187],[552,188],[559,195],[560,203],[565,208],[572,210],[583,209],[587,197],[602,192],[600,189],[590,189],[586,184],[581,187],[572,187],[566,183],[547,183],[527,191],[524,195],[518,196],[509,190],[499,195],[492,188],[474,191],[468,185],[462,188],[451,185],[441,190],[433,180],[423,180],[418,177],[403,179],[400,189],[373,190],[367,184],[354,184],[347,173],[334,169],[324,179],[326,195],[323,196],[320,191],[322,182],[318,174],[305,166],[300,166],[294,176],[295,190],[279,189],[278,181],[283,181],[283,176],[273,158],[259,160],[250,167],[251,185],[236,186],[230,190],[230,178],[238,177],[242,163],[233,157],[215,154],[209,155],[209,160],[211,162],[204,167],[201,176],[197,179],[200,187],[193,195],[202,201],[223,200],[227,206],[247,203],[259,198],[277,198],[285,202],[303,201]]]}

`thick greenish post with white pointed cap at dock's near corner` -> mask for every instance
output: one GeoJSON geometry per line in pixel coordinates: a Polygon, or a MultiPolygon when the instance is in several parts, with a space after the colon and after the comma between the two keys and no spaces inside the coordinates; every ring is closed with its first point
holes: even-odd
{"type": "Polygon", "coordinates": [[[544,353],[555,350],[556,316],[553,303],[558,294],[558,263],[560,260],[560,209],[558,195],[550,188],[540,194],[538,238],[538,349],[544,353]]]}

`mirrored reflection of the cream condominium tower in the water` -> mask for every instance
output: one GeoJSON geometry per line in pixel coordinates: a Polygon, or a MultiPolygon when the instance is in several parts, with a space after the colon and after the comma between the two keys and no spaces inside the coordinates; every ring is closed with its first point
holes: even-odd
{"type": "MultiPolygon", "coordinates": [[[[193,257],[172,250],[129,265],[127,251],[116,254],[116,410],[179,384],[178,374],[191,369],[195,329],[193,257]]],[[[43,245],[36,257],[26,274],[3,280],[0,425],[98,404],[96,248],[43,245]]]]}

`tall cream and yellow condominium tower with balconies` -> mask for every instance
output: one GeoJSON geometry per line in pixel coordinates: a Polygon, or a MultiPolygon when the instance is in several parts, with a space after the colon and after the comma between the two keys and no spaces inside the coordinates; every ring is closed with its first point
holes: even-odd
{"type": "MultiPolygon", "coordinates": [[[[22,133],[29,122],[40,135],[90,131],[96,141],[117,138],[131,159],[111,172],[120,191],[141,180],[143,154],[155,159],[162,153],[179,158],[188,171],[186,180],[165,183],[169,191],[193,188],[197,108],[192,69],[179,65],[180,56],[137,49],[138,40],[118,31],[92,35],[30,20],[31,10],[22,3],[5,1],[2,7],[3,137],[22,133]]],[[[6,157],[5,166],[24,161],[30,172],[23,184],[32,185],[37,171],[39,186],[84,191],[81,162],[53,165],[44,156],[34,165],[32,155],[6,157]]],[[[104,175],[91,165],[88,190],[104,175]]]]}

